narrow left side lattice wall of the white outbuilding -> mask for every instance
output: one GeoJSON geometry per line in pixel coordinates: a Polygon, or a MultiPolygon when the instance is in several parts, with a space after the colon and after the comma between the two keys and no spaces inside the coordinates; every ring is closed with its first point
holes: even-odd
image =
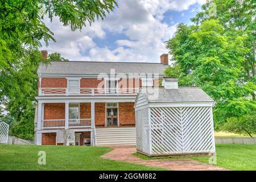
{"type": "Polygon", "coordinates": [[[150,133],[148,125],[148,109],[136,111],[136,141],[137,150],[148,154],[150,152],[150,133]]]}

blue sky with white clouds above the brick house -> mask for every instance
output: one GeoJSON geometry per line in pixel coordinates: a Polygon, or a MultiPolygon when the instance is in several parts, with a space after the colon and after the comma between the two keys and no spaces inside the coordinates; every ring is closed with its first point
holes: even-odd
{"type": "Polygon", "coordinates": [[[81,31],[64,27],[57,17],[47,27],[56,42],[42,49],[59,52],[71,61],[132,61],[159,63],[168,53],[164,42],[177,23],[191,24],[205,0],[117,0],[118,7],[81,31]]]}

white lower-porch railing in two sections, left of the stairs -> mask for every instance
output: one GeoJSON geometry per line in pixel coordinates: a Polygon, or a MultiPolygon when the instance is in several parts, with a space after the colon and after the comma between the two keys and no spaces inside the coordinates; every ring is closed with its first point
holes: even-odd
{"type": "MultiPolygon", "coordinates": [[[[91,127],[91,119],[68,119],[68,128],[91,127]]],[[[65,119],[44,119],[43,129],[65,128],[65,119]]]]}

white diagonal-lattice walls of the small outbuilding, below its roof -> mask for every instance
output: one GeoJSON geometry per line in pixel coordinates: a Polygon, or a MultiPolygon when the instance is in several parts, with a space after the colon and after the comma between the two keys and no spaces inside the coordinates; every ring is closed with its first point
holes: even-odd
{"type": "MultiPolygon", "coordinates": [[[[147,113],[142,110],[137,110],[138,135],[143,135],[147,129],[139,122],[143,120],[141,115],[147,113]]],[[[215,152],[212,107],[151,107],[147,110],[151,127],[148,136],[151,137],[137,137],[138,151],[149,155],[215,152]],[[150,150],[144,150],[147,147],[143,145],[150,146],[150,150]]]]}

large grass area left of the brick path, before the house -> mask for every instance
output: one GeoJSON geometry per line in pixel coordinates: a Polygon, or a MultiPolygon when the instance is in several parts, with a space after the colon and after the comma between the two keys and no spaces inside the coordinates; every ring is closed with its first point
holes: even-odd
{"type": "Polygon", "coordinates": [[[139,164],[102,159],[109,147],[22,146],[0,144],[0,170],[163,170],[139,164]],[[46,165],[38,164],[38,152],[46,152],[46,165]]]}

